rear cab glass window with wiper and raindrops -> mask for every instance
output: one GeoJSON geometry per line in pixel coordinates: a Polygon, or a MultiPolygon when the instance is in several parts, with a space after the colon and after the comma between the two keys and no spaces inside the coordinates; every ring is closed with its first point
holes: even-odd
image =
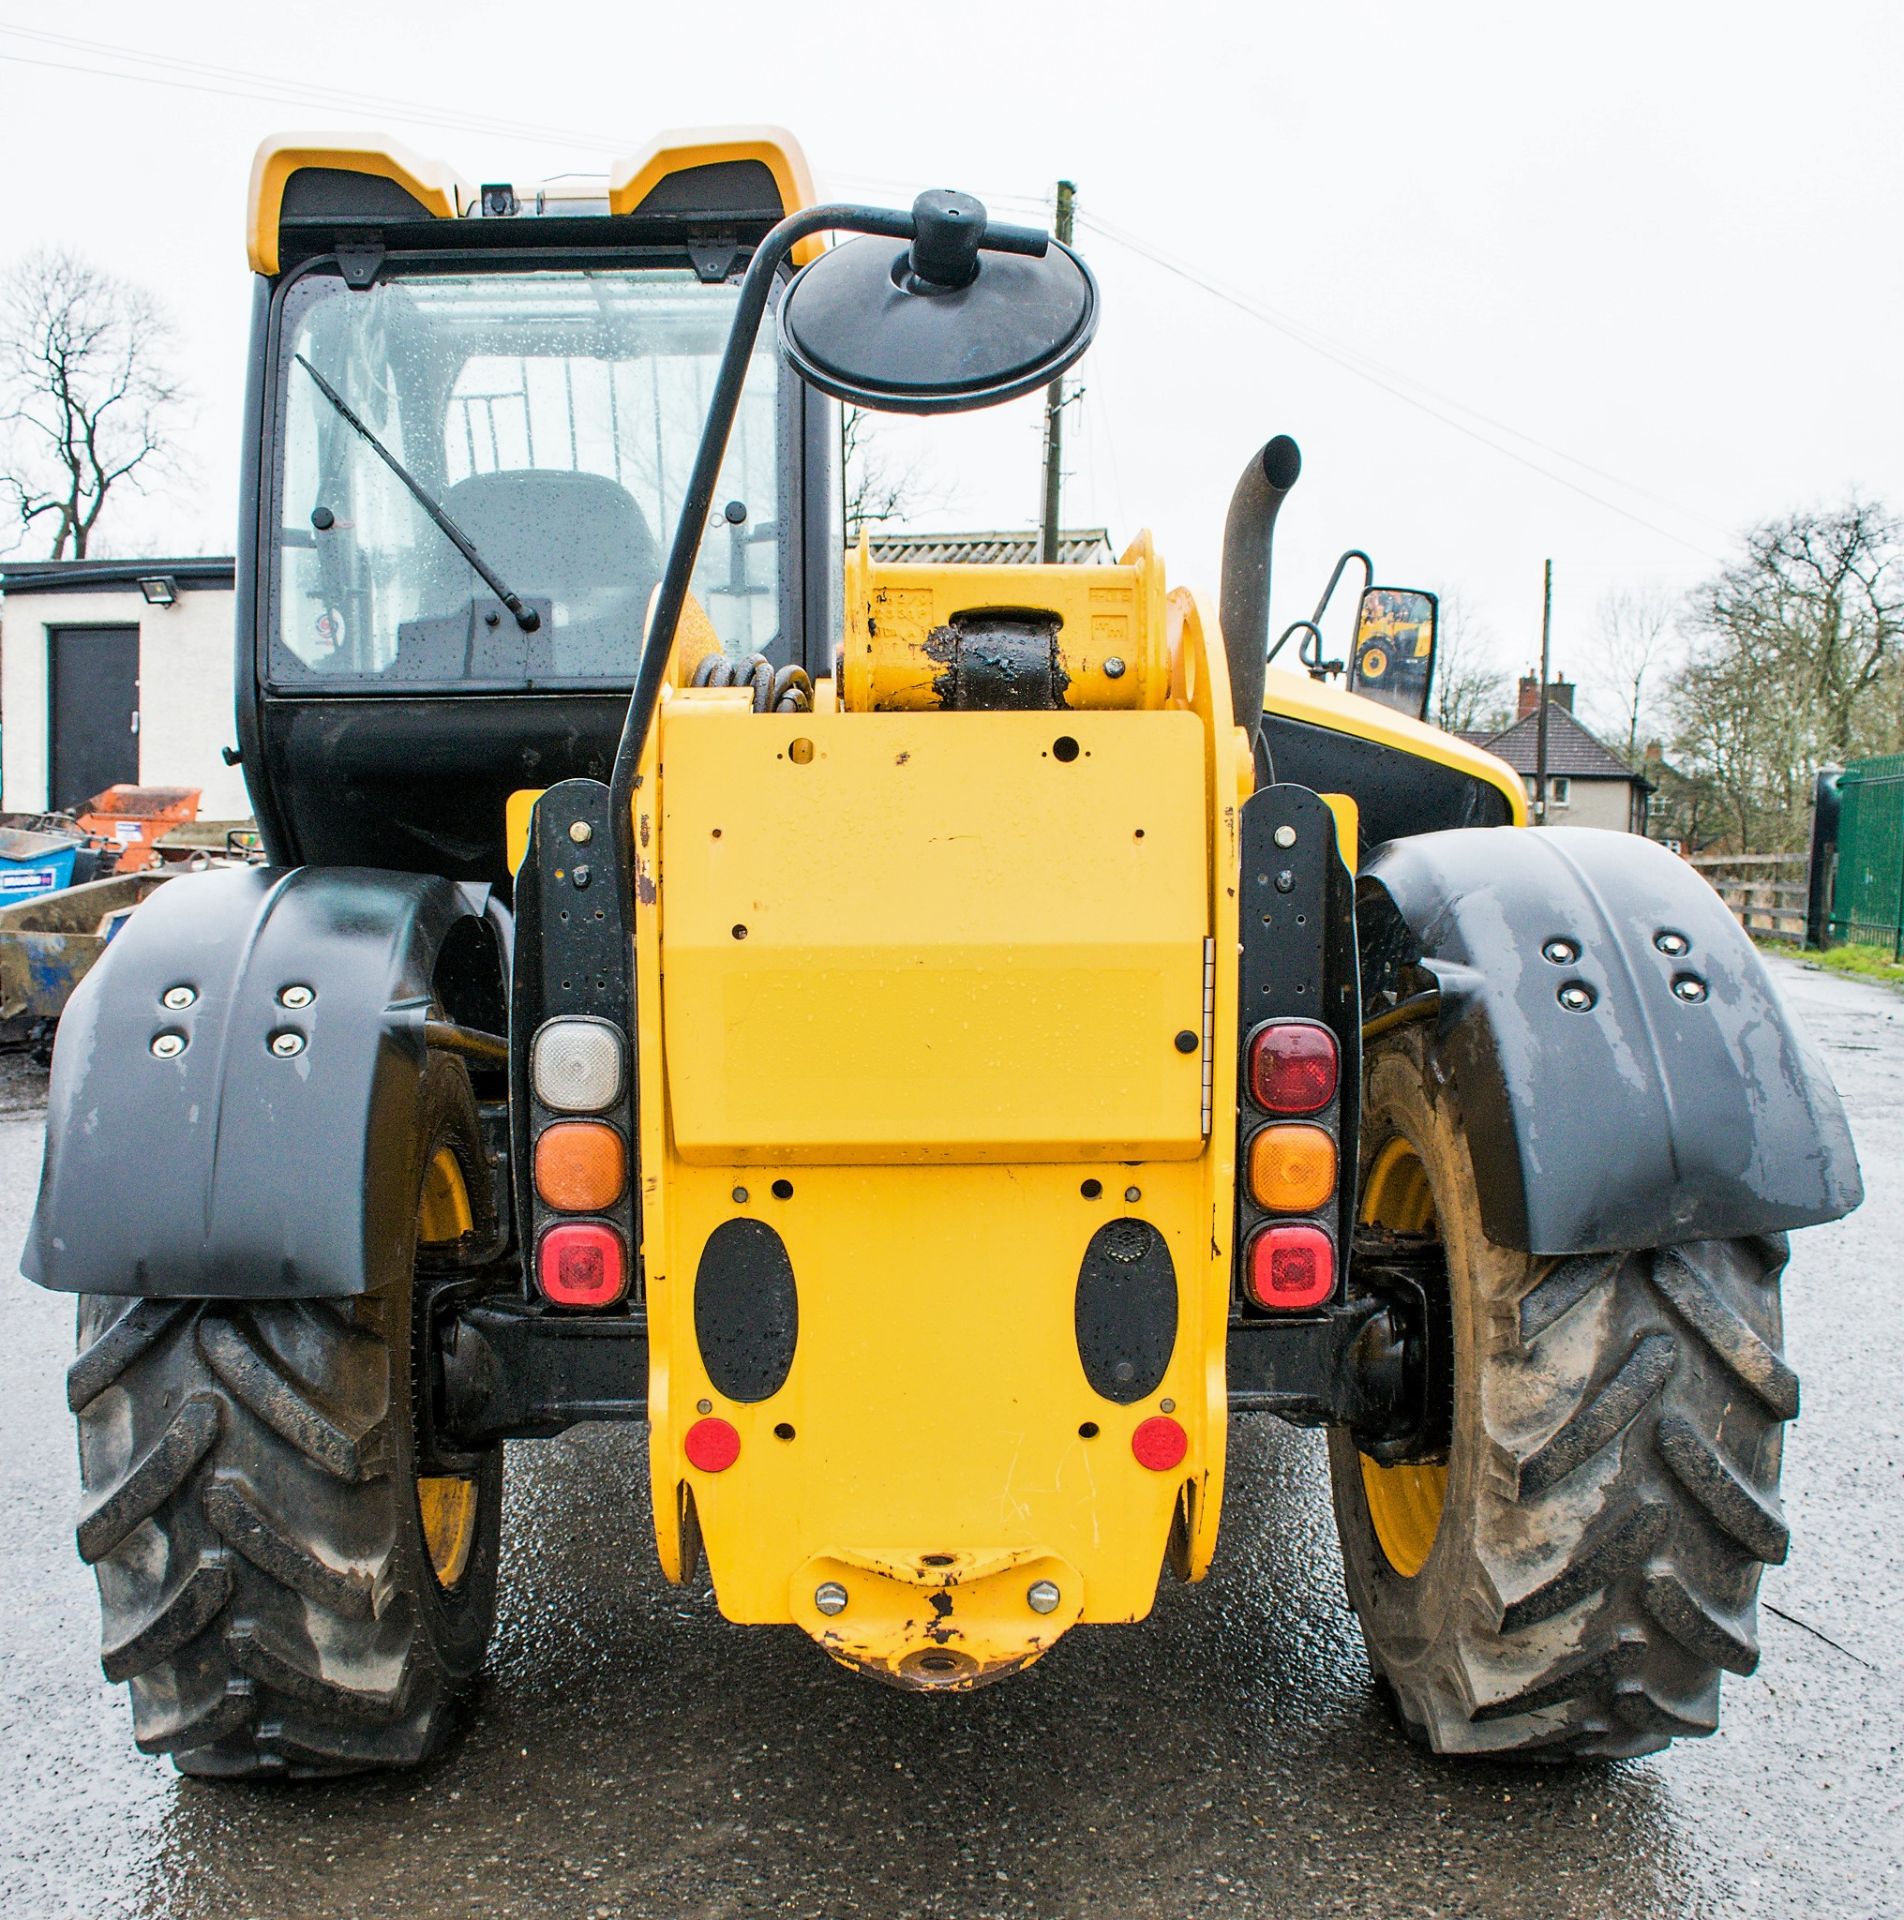
{"type": "MultiPolygon", "coordinates": [[[[271,678],[631,680],[735,292],[626,267],[296,282],[271,678]],[[395,467],[534,612],[532,632],[395,467]]],[[[693,578],[737,659],[785,655],[781,430],[764,328],[693,578]]]]}

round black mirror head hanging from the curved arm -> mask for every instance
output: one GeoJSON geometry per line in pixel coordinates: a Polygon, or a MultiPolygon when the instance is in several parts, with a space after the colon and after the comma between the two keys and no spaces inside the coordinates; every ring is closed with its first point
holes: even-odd
{"type": "Polygon", "coordinates": [[[1098,330],[1098,282],[1067,246],[985,246],[969,194],[921,194],[917,238],[848,240],[795,275],[779,344],[821,394],[881,413],[965,413],[1061,374],[1098,330]]]}

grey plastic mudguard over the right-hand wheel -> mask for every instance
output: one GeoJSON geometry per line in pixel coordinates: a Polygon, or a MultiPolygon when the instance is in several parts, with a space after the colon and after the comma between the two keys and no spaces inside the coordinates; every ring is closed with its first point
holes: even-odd
{"type": "Polygon", "coordinates": [[[1384,991],[1440,987],[1436,1050],[1497,1244],[1731,1238],[1864,1198],[1831,1075],[1720,897],[1664,847],[1587,828],[1420,833],[1368,858],[1357,922],[1365,1018],[1384,991]],[[1578,960],[1547,958],[1555,941],[1578,960]],[[1583,1012],[1560,998],[1570,985],[1589,989],[1583,1012]]]}

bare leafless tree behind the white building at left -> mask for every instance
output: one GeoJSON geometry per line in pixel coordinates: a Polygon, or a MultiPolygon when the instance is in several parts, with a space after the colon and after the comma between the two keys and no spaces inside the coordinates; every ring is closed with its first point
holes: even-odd
{"type": "Polygon", "coordinates": [[[0,488],[52,559],[84,559],[113,490],[167,465],[171,340],[150,292],[77,253],[29,253],[0,282],[0,488]]]}

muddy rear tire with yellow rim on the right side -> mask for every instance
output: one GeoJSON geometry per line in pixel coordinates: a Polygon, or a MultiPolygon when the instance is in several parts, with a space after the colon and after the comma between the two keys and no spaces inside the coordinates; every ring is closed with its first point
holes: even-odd
{"type": "Polygon", "coordinates": [[[1722,1670],[1758,1663],[1758,1576],[1787,1548],[1783,1236],[1560,1260],[1499,1248],[1426,1029],[1370,1046],[1365,1089],[1365,1213],[1403,1190],[1393,1173],[1413,1156],[1455,1346],[1445,1488],[1434,1469],[1368,1471],[1330,1434],[1378,1678],[1438,1753],[1614,1759],[1710,1734],[1722,1670]]]}

